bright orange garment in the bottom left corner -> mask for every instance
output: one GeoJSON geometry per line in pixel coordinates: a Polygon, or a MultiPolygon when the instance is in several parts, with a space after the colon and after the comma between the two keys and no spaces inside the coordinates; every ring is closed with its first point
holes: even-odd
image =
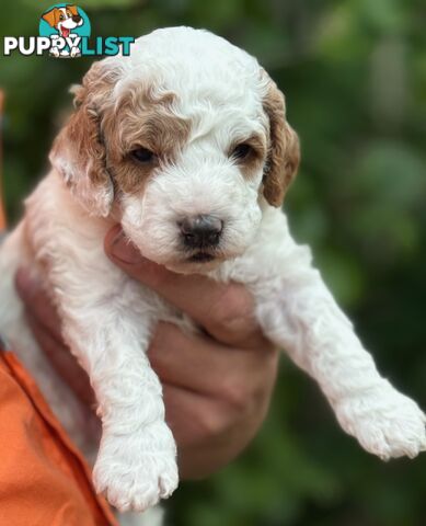
{"type": "Polygon", "coordinates": [[[1,350],[0,447],[0,525],[117,526],[34,380],[1,350]]]}

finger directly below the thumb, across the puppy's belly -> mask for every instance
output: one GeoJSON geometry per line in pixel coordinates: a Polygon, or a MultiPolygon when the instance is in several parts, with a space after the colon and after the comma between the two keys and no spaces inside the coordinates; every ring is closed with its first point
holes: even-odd
{"type": "Polygon", "coordinates": [[[229,348],[199,334],[184,334],[173,323],[159,323],[149,348],[162,382],[224,400],[237,411],[262,399],[274,385],[277,352],[229,348]]]}

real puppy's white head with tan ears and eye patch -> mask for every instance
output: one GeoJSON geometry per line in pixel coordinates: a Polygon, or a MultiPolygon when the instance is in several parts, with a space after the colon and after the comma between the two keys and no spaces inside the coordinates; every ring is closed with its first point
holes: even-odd
{"type": "Polygon", "coordinates": [[[257,61],[188,27],[92,66],[50,160],[92,215],[176,272],[241,255],[299,163],[285,101],[257,61]]]}

